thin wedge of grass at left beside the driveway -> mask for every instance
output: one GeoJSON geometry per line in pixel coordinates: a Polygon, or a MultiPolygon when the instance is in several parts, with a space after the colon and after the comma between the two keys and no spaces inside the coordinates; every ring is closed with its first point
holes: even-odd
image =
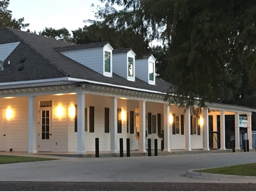
{"type": "Polygon", "coordinates": [[[41,157],[23,157],[23,156],[12,156],[12,155],[0,155],[0,164],[20,163],[20,162],[29,162],[29,161],[45,161],[45,160],[55,160],[55,159],[41,158],[41,157]]]}

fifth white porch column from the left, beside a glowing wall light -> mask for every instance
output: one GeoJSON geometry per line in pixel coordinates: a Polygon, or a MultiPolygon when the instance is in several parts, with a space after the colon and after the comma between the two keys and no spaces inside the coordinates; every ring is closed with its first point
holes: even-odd
{"type": "Polygon", "coordinates": [[[164,142],[164,149],[163,151],[171,151],[170,150],[170,122],[169,122],[169,114],[170,114],[170,107],[168,104],[163,104],[163,142],[164,142]]]}

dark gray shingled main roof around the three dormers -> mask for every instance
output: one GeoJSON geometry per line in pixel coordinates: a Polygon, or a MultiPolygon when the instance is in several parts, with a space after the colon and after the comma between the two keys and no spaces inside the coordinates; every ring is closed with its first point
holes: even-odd
{"type": "Polygon", "coordinates": [[[20,44],[4,61],[5,70],[0,71],[0,82],[51,79],[69,76],[77,79],[86,79],[159,92],[166,92],[171,85],[157,78],[156,85],[151,85],[137,78],[136,81],[128,81],[115,73],[113,73],[113,78],[105,77],[56,51],[56,47],[58,47],[58,50],[74,49],[76,47],[78,49],[84,49],[85,47],[104,46],[107,42],[74,45],[7,27],[0,29],[0,37],[0,44],[20,41],[20,44]],[[20,63],[20,59],[22,58],[26,58],[24,63],[20,63]],[[8,61],[11,61],[9,67],[7,66],[8,61]],[[23,65],[23,70],[20,71],[19,67],[21,65],[23,65]]]}

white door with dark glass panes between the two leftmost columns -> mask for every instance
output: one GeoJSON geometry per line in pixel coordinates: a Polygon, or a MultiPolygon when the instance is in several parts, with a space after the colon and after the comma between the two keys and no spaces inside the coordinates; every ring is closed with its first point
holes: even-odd
{"type": "Polygon", "coordinates": [[[51,112],[51,107],[39,110],[38,151],[52,151],[51,112]]]}

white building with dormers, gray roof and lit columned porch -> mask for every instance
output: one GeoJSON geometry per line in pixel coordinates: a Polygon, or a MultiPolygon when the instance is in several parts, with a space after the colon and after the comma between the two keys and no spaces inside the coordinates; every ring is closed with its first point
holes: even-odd
{"type": "Polygon", "coordinates": [[[252,149],[255,109],[209,103],[199,117],[184,113],[163,101],[170,84],[155,77],[154,56],[135,55],[131,49],[113,50],[108,42],[75,45],[0,29],[0,151],[84,154],[95,151],[99,138],[100,151],[117,153],[119,138],[130,138],[131,150],[146,152],[146,132],[154,140],[161,130],[164,151],[209,150],[209,115],[213,129],[220,115],[225,150],[225,114],[235,115],[236,149],[239,114],[247,115],[252,149]]]}

